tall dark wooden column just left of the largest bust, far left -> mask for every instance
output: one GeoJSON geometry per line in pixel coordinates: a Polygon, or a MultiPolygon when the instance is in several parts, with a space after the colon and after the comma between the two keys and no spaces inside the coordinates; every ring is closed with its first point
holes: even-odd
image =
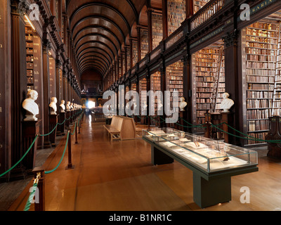
{"type": "MultiPolygon", "coordinates": [[[[3,31],[2,31],[3,32],[3,31]]],[[[8,32],[8,30],[6,31],[8,32]]],[[[11,164],[22,157],[22,101],[27,98],[25,22],[11,1],[11,164]]],[[[1,69],[2,70],[2,69],[1,69]]],[[[2,98],[2,97],[1,97],[2,98]]]]}

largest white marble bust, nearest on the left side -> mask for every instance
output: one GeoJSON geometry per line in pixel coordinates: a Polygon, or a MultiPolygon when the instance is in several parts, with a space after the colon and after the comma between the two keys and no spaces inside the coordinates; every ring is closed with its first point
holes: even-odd
{"type": "Polygon", "coordinates": [[[37,91],[30,90],[27,92],[27,98],[22,103],[22,108],[26,110],[26,118],[23,121],[38,121],[39,107],[35,101],[38,98],[37,91]]]}

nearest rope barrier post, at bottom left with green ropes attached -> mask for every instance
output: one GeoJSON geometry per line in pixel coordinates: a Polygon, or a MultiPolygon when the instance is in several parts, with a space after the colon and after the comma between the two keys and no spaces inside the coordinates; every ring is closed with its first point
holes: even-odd
{"type": "Polygon", "coordinates": [[[45,170],[44,169],[33,169],[34,181],[37,179],[37,190],[39,191],[38,200],[35,195],[34,210],[37,212],[45,211],[45,170]]]}

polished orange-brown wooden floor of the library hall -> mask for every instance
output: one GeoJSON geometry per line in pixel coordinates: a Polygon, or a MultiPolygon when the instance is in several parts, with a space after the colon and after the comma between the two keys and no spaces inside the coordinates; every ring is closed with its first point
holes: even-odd
{"type": "MultiPolygon", "coordinates": [[[[200,209],[192,196],[192,172],[178,162],[152,166],[150,145],[141,139],[110,143],[103,124],[85,117],[78,144],[72,138],[72,170],[67,153],[55,172],[46,175],[46,211],[273,211],[281,210],[281,161],[259,155],[259,172],[232,178],[232,200],[200,209]],[[249,187],[249,204],[240,203],[240,188],[249,187]]],[[[44,164],[59,162],[65,138],[44,164]]],[[[30,183],[9,211],[22,211],[30,183]]],[[[34,210],[32,207],[30,210],[34,210]]]]}

